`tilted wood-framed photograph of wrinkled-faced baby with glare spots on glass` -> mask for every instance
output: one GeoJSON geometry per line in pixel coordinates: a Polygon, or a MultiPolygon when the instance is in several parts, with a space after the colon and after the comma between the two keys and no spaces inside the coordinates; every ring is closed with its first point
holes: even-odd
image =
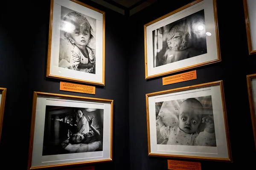
{"type": "Polygon", "coordinates": [[[221,61],[216,0],[195,0],[144,25],[145,79],[221,61]]]}

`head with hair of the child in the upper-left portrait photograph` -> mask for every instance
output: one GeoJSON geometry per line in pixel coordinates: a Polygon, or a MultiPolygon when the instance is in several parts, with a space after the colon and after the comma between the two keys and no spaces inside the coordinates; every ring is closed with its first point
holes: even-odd
{"type": "Polygon", "coordinates": [[[92,28],[88,20],[77,12],[70,12],[64,17],[64,36],[76,45],[85,46],[91,38],[92,28]]]}

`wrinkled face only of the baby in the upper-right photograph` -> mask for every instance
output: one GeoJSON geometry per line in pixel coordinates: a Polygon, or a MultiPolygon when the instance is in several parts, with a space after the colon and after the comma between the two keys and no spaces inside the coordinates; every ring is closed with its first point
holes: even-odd
{"type": "Polygon", "coordinates": [[[167,36],[167,45],[174,51],[185,50],[189,41],[189,33],[183,26],[175,26],[169,31],[167,36]]]}

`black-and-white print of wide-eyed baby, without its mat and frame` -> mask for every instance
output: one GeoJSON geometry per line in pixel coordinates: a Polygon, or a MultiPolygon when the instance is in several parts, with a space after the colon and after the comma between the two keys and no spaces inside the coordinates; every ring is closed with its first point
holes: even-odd
{"type": "Polygon", "coordinates": [[[156,102],[157,144],[216,147],[212,97],[156,102]]]}

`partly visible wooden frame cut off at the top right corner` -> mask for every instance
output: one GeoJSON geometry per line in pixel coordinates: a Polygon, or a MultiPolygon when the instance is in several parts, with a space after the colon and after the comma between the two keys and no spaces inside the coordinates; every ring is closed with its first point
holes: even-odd
{"type": "MultiPolygon", "coordinates": [[[[253,1],[252,1],[253,2],[253,1]]],[[[256,3],[254,4],[256,5],[256,3]]],[[[249,55],[251,54],[256,54],[256,47],[254,46],[253,48],[253,42],[252,42],[252,30],[254,29],[250,28],[250,22],[252,21],[253,18],[250,17],[248,7],[251,6],[253,8],[252,4],[247,3],[247,0],[244,0],[244,17],[245,17],[245,26],[246,26],[246,35],[247,35],[247,43],[248,43],[248,50],[249,50],[249,55]]],[[[255,34],[255,33],[254,33],[255,34]]]]}

